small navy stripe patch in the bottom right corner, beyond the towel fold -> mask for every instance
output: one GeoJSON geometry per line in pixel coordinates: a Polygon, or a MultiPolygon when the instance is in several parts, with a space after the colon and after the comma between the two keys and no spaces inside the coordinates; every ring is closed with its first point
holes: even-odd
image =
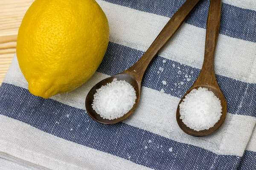
{"type": "Polygon", "coordinates": [[[256,152],[245,150],[237,170],[256,170],[256,152]]]}

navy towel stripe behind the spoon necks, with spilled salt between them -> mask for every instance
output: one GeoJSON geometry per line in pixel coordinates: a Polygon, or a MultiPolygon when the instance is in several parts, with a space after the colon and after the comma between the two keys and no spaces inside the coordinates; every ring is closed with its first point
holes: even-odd
{"type": "MultiPolygon", "coordinates": [[[[143,54],[143,51],[110,42],[97,71],[112,76],[129,68],[143,54]]],[[[163,57],[156,57],[149,65],[145,73],[143,86],[157,91],[163,88],[166,94],[181,98],[195,82],[200,69],[181,65],[169,59],[165,59],[166,63],[163,63],[164,59],[163,57]],[[160,67],[163,67],[163,72],[160,71],[160,74],[158,74],[157,71],[160,67]],[[194,73],[191,74],[191,71],[194,73]],[[186,76],[191,76],[191,81],[188,82],[187,78],[189,77],[186,78],[186,76]],[[168,86],[163,85],[163,80],[167,82],[168,86]],[[184,84],[180,85],[180,82],[184,82],[184,84]]],[[[256,84],[245,83],[220,75],[216,75],[216,78],[227,100],[229,113],[256,116],[256,84]]]]}

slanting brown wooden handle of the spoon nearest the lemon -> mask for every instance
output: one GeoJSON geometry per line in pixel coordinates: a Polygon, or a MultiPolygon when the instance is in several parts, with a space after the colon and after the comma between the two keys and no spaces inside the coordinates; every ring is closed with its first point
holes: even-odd
{"type": "Polygon", "coordinates": [[[141,81],[143,74],[151,60],[157,55],[158,51],[166,44],[166,42],[173,36],[173,34],[184,22],[186,17],[188,17],[192,9],[200,1],[201,0],[187,0],[164,26],[163,30],[150,45],[145,54],[143,54],[143,56],[125,72],[134,73],[135,70],[137,81],[141,81]]]}

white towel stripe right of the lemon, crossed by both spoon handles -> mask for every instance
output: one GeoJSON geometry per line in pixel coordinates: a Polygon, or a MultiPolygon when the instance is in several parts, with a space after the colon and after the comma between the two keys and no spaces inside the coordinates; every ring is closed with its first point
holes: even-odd
{"type": "MultiPolygon", "coordinates": [[[[97,2],[108,17],[110,41],[140,51],[147,50],[169,20],[168,17],[102,0],[97,2]]],[[[201,69],[205,34],[205,29],[184,23],[159,55],[201,69]]],[[[256,74],[252,70],[256,66],[255,46],[254,42],[219,34],[215,52],[216,74],[244,82],[256,82],[256,74]]]]}

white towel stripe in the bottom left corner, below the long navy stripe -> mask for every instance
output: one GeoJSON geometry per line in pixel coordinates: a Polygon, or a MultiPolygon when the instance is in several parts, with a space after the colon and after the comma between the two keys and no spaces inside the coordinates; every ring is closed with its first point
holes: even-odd
{"type": "Polygon", "coordinates": [[[0,152],[52,170],[149,170],[0,115],[0,152]]]}

